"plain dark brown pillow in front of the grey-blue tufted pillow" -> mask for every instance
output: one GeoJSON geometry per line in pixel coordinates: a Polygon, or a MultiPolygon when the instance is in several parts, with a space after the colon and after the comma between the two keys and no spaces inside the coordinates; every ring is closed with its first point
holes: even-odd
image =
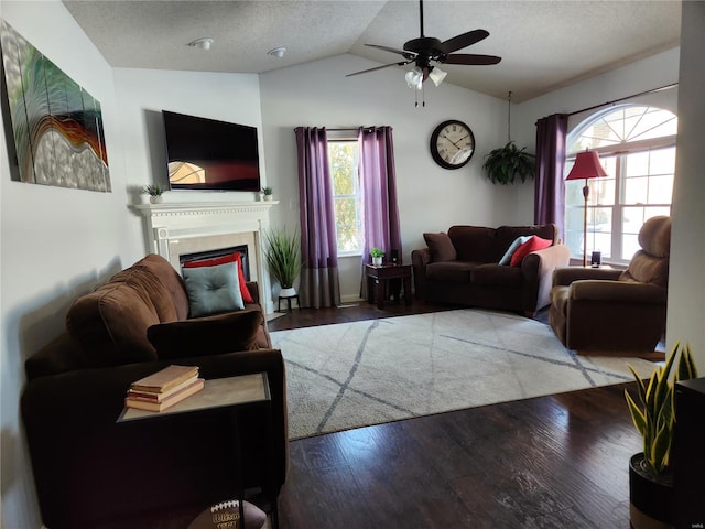
{"type": "Polygon", "coordinates": [[[160,323],[147,330],[158,358],[186,358],[257,348],[262,313],[247,310],[160,323]]]}

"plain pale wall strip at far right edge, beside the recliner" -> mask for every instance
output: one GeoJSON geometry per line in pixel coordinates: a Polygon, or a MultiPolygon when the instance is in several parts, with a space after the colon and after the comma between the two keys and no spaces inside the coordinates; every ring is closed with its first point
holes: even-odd
{"type": "Polygon", "coordinates": [[[690,343],[705,376],[705,3],[683,2],[679,140],[669,274],[669,346],[690,343]]]}

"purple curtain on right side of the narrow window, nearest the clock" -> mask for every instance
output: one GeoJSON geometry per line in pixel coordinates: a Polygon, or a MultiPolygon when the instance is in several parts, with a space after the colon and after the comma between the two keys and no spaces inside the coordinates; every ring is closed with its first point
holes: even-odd
{"type": "MultiPolygon", "coordinates": [[[[397,201],[397,174],[391,127],[360,127],[360,194],[362,196],[362,263],[369,262],[370,250],[381,248],[386,259],[391,250],[399,252],[401,262],[401,230],[397,201]]],[[[366,277],[362,273],[362,288],[366,277]]]]}

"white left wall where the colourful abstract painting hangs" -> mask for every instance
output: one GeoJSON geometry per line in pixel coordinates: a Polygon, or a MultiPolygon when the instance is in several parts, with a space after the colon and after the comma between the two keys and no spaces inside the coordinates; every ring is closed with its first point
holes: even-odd
{"type": "Polygon", "coordinates": [[[112,183],[112,193],[97,193],[11,182],[0,131],[0,525],[24,529],[39,527],[39,514],[19,418],[23,363],[61,333],[76,295],[122,267],[133,241],[126,230],[126,176],[111,68],[58,1],[2,1],[0,15],[100,101],[112,183]]]}

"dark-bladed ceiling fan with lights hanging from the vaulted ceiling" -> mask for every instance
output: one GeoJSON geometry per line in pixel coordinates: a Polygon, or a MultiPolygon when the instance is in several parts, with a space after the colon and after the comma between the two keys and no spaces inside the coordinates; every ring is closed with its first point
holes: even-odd
{"type": "Polygon", "coordinates": [[[427,78],[431,78],[431,80],[433,80],[434,84],[438,86],[446,76],[446,73],[442,72],[441,68],[437,68],[434,64],[432,64],[432,62],[440,64],[490,65],[497,64],[501,61],[501,57],[498,57],[496,55],[454,53],[489,36],[489,32],[485,30],[468,31],[467,33],[454,36],[453,39],[448,39],[444,42],[441,42],[438,39],[435,39],[433,36],[424,36],[423,0],[419,1],[419,11],[421,14],[421,36],[419,39],[412,39],[411,41],[404,43],[402,50],[382,46],[379,44],[365,44],[366,46],[399,54],[404,57],[403,61],[398,61],[395,63],[384,64],[375,68],[355,72],[352,74],[346,75],[346,77],[367,74],[377,69],[388,68],[389,66],[404,66],[406,64],[414,63],[414,68],[411,72],[406,73],[406,83],[410,88],[421,89],[423,82],[427,78]]]}

